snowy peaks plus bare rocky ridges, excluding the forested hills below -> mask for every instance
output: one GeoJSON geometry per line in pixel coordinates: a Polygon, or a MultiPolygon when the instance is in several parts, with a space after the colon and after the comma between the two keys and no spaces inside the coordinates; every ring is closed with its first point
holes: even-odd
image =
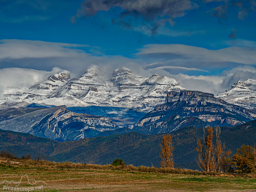
{"type": "Polygon", "coordinates": [[[158,134],[188,126],[236,126],[256,119],[249,110],[255,85],[256,80],[240,80],[215,98],[185,90],[173,78],[144,78],[125,67],[108,76],[93,66],[79,79],[63,71],[30,88],[5,91],[0,129],[66,141],[122,127],[158,134]]]}

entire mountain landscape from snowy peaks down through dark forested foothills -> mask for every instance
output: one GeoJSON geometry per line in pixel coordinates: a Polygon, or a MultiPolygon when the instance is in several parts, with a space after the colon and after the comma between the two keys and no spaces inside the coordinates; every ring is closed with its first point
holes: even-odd
{"type": "Polygon", "coordinates": [[[10,88],[0,100],[0,147],[19,157],[158,166],[163,134],[170,133],[175,165],[198,169],[202,127],[222,126],[221,140],[233,151],[256,139],[253,79],[214,97],[157,74],[144,78],[122,67],[108,76],[92,67],[79,79],[63,71],[30,88],[10,88]]]}

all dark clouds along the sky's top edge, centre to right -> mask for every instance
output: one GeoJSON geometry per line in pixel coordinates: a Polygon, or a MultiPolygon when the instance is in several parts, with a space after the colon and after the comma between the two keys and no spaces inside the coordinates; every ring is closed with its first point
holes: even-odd
{"type": "MultiPolygon", "coordinates": [[[[119,17],[112,18],[112,23],[133,29],[140,27],[142,30],[150,30],[152,35],[157,33],[157,29],[169,22],[174,25],[174,18],[183,17],[189,10],[196,9],[203,4],[217,2],[219,5],[210,10],[213,17],[220,19],[228,18],[229,12],[237,14],[237,18],[244,20],[249,11],[254,11],[255,0],[84,0],[76,16],[71,18],[75,23],[76,18],[95,16],[99,11],[109,11],[113,7],[121,7],[122,12],[119,17]],[[126,16],[143,18],[139,22],[127,21],[126,16]],[[141,22],[141,23],[140,23],[141,22]],[[129,27],[127,27],[129,26],[129,27]]],[[[221,23],[221,22],[220,22],[221,23]]]]}

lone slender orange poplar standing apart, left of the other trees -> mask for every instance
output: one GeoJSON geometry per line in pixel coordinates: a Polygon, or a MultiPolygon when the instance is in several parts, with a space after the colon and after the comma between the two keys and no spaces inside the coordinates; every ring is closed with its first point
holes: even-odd
{"type": "Polygon", "coordinates": [[[170,134],[166,134],[163,136],[162,144],[160,145],[161,152],[160,152],[160,166],[161,167],[174,167],[173,162],[173,141],[172,136],[170,134]]]}

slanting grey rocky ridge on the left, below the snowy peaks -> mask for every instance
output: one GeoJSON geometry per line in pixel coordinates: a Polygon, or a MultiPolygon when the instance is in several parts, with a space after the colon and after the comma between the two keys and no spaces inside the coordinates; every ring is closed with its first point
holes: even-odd
{"type": "Polygon", "coordinates": [[[88,132],[118,128],[109,118],[73,113],[65,105],[48,109],[33,108],[30,111],[12,108],[7,112],[8,110],[0,110],[2,116],[6,114],[6,118],[0,121],[0,129],[30,133],[56,141],[79,140],[87,137],[88,132]],[[10,113],[15,116],[7,117],[10,113]]]}

